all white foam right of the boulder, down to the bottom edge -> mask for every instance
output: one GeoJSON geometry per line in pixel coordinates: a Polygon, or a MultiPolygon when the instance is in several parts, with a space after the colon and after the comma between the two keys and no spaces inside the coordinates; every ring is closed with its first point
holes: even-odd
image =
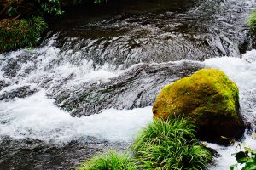
{"type": "MultiPolygon", "coordinates": [[[[255,130],[256,121],[256,50],[243,54],[241,58],[222,57],[208,59],[204,62],[207,67],[218,68],[236,82],[240,93],[241,116],[250,123],[255,130]]],[[[243,145],[256,150],[256,138],[254,135],[245,133],[243,144],[236,142],[233,146],[222,147],[218,144],[207,144],[218,151],[220,157],[215,159],[215,166],[210,169],[230,169],[230,165],[236,164],[235,156],[232,154],[244,150],[243,145]],[[239,146],[241,145],[241,147],[239,146]]],[[[242,166],[237,167],[241,169],[242,166]]]]}

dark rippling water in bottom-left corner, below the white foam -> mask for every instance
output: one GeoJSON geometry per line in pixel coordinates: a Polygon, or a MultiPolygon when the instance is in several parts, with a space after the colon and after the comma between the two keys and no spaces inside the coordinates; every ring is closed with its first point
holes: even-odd
{"type": "Polygon", "coordinates": [[[73,169],[97,152],[118,148],[125,144],[110,144],[108,141],[85,137],[67,143],[55,143],[38,139],[0,140],[0,167],[9,169],[73,169]]]}

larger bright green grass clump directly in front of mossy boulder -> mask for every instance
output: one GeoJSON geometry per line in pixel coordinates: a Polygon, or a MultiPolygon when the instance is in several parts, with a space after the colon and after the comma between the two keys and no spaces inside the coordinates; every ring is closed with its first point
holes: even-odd
{"type": "Polygon", "coordinates": [[[212,154],[195,139],[193,122],[155,120],[137,137],[133,150],[142,169],[202,169],[212,154]]]}

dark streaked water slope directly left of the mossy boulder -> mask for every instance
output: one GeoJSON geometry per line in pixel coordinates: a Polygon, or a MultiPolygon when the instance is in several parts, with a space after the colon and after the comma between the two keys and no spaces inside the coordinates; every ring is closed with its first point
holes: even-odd
{"type": "Polygon", "coordinates": [[[203,65],[193,62],[141,64],[108,82],[85,84],[73,93],[54,98],[73,116],[89,116],[108,108],[132,109],[153,105],[160,88],[178,78],[191,75],[203,65]],[[193,65],[193,66],[191,66],[193,65]]]}

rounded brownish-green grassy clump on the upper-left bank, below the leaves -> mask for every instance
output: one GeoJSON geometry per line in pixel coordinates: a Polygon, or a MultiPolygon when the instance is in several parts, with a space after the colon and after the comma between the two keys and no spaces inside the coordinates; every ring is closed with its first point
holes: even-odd
{"type": "Polygon", "coordinates": [[[0,53],[35,45],[46,28],[46,23],[41,17],[32,17],[28,20],[1,20],[0,53]]]}

